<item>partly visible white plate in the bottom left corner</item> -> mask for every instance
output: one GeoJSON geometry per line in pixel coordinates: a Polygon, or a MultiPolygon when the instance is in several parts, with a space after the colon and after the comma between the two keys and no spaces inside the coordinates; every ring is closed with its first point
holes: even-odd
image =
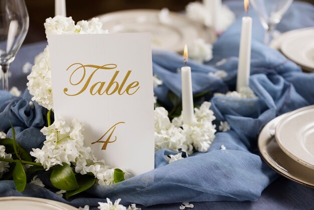
{"type": "Polygon", "coordinates": [[[77,210],[77,208],[62,202],[37,197],[0,197],[0,209],[77,210]]]}

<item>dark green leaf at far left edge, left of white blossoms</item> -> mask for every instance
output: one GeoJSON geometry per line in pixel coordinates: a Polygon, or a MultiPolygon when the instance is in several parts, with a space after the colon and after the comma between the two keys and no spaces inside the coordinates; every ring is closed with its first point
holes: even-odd
{"type": "Polygon", "coordinates": [[[29,154],[29,152],[26,151],[26,149],[24,149],[23,147],[21,147],[19,143],[14,142],[13,139],[10,138],[1,139],[0,144],[6,147],[7,153],[15,154],[17,157],[21,157],[22,160],[32,161],[32,157],[29,154]],[[18,153],[18,155],[16,154],[16,152],[18,153]]]}

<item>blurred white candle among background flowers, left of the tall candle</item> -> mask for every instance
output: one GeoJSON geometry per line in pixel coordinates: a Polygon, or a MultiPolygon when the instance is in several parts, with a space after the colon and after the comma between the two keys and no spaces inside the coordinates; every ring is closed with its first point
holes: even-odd
{"type": "MultiPolygon", "coordinates": [[[[203,5],[208,13],[207,18],[211,19],[211,27],[213,27],[216,32],[219,31],[220,13],[222,7],[221,0],[203,0],[203,5]]],[[[207,20],[207,23],[210,23],[210,21],[207,20]]]]}

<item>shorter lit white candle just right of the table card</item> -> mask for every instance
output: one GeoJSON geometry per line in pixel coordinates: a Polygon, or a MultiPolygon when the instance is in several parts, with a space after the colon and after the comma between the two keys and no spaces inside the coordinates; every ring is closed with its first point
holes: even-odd
{"type": "Polygon", "coordinates": [[[181,68],[182,76],[182,117],[183,123],[192,125],[194,122],[194,105],[192,91],[191,67],[187,66],[188,47],[184,46],[184,62],[185,66],[181,68]]]}

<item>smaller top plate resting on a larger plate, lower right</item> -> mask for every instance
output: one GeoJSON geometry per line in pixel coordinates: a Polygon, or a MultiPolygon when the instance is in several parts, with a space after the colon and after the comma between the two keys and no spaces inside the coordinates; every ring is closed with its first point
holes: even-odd
{"type": "Polygon", "coordinates": [[[295,110],[277,125],[280,148],[295,161],[314,169],[314,106],[295,110]]]}

